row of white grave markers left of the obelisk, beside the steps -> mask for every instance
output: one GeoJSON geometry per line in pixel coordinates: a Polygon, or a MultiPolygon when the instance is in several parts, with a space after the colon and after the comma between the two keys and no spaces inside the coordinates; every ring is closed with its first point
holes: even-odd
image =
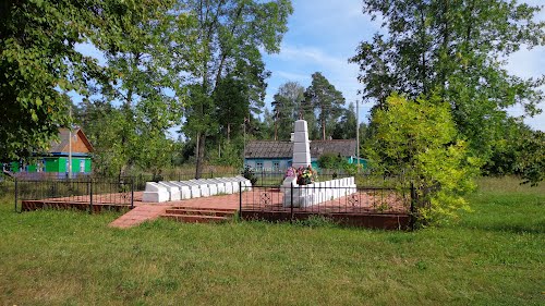
{"type": "Polygon", "coordinates": [[[240,186],[242,186],[243,192],[252,189],[252,183],[243,176],[199,179],[181,182],[146,182],[146,189],[142,196],[142,201],[161,203],[215,196],[218,194],[230,195],[240,192],[240,186]]]}

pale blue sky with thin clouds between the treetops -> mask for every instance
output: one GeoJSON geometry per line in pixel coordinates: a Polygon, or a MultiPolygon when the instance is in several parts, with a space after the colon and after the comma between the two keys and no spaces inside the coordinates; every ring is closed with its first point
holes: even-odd
{"type": "MultiPolygon", "coordinates": [[[[543,4],[543,0],[526,1],[543,4]]],[[[294,12],[289,19],[281,51],[264,57],[267,69],[271,71],[265,101],[270,107],[278,87],[288,82],[299,82],[304,87],[311,84],[311,75],[319,71],[337,89],[342,91],[347,102],[361,101],[358,89],[358,66],[349,64],[348,59],[355,54],[362,40],[370,40],[380,29],[378,22],[362,13],[361,0],[293,0],[294,12]]],[[[545,20],[542,10],[540,20],[545,20]]],[[[538,77],[545,74],[545,48],[525,49],[512,54],[507,69],[521,77],[538,77]]],[[[365,121],[370,103],[360,103],[360,121],[365,121]]],[[[545,103],[541,105],[545,108],[545,103]]],[[[518,107],[513,115],[522,114],[518,107]]],[[[545,131],[545,114],[526,119],[532,127],[545,131]]]]}

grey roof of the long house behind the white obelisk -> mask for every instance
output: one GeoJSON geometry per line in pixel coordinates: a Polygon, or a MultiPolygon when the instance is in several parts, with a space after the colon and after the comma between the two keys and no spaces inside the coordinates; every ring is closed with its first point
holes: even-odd
{"type": "MultiPolygon", "coordinates": [[[[311,156],[313,158],[318,158],[323,154],[355,156],[355,139],[312,140],[311,156]]],[[[292,156],[291,142],[251,140],[244,151],[244,158],[292,158],[292,156]]]]}

